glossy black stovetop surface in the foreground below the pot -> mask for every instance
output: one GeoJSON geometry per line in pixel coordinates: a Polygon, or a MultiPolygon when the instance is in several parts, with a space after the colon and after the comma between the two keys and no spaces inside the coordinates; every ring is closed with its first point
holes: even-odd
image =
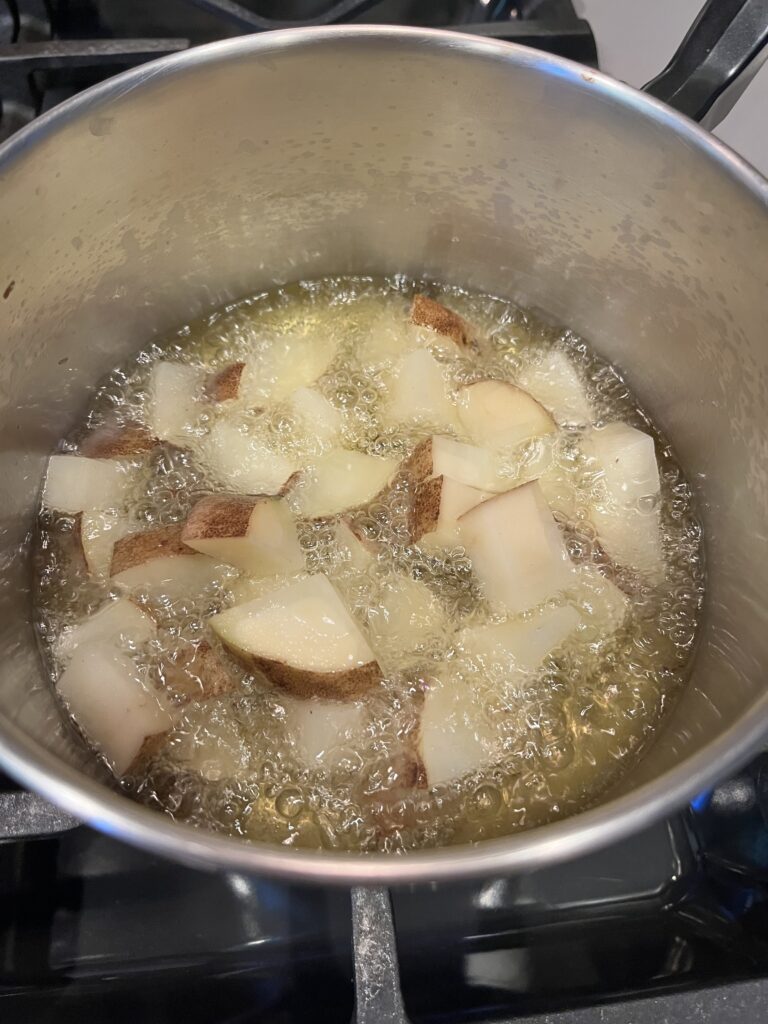
{"type": "MultiPolygon", "coordinates": [[[[626,1000],[693,993],[663,1002],[666,1019],[757,1022],[768,1005],[767,790],[764,756],[675,820],[580,860],[393,891],[404,1019],[639,1024],[664,1019],[658,1005],[626,1000]],[[761,983],[697,992],[749,979],[761,983]],[[679,1016],[691,999],[695,1015],[679,1016]],[[590,1016],[615,1000],[600,1011],[615,1017],[590,1016]]],[[[345,890],[196,871],[84,826],[7,841],[0,1020],[348,1024],[351,922],[345,890]]]]}

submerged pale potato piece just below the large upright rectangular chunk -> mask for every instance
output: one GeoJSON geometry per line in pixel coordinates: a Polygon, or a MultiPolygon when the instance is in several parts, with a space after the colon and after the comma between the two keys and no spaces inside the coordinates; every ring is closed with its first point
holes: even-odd
{"type": "Polygon", "coordinates": [[[468,654],[492,662],[511,657],[516,668],[535,672],[570,636],[581,617],[570,605],[543,608],[528,620],[467,627],[458,639],[468,654]]]}

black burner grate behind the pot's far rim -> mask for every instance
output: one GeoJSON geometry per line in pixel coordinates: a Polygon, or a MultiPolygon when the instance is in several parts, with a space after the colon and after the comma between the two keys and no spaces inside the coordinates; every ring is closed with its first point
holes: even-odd
{"type": "Polygon", "coordinates": [[[0,0],[0,141],[119,71],[190,45],[271,29],[373,23],[452,28],[593,67],[570,0],[0,0]]]}

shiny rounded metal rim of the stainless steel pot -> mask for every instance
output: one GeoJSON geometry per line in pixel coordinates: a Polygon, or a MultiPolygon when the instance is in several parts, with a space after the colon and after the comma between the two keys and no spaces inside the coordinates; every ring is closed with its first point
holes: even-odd
{"type": "MultiPolygon", "coordinates": [[[[566,79],[583,91],[594,92],[596,98],[623,104],[664,131],[682,136],[703,159],[736,179],[768,213],[768,180],[719,139],[659,100],[601,72],[529,47],[464,33],[398,26],[283,29],[209,43],[116,75],[42,115],[1,145],[0,187],[3,172],[15,161],[31,156],[38,140],[145,83],[231,58],[278,55],[336,40],[376,39],[409,41],[426,49],[458,50],[566,79]]],[[[736,770],[757,751],[766,732],[768,693],[703,750],[625,796],[529,831],[402,855],[288,850],[276,844],[246,843],[175,822],[81,774],[7,718],[0,719],[0,766],[23,785],[100,831],[193,866],[345,886],[396,885],[530,870],[621,840],[679,810],[736,770]]]]}

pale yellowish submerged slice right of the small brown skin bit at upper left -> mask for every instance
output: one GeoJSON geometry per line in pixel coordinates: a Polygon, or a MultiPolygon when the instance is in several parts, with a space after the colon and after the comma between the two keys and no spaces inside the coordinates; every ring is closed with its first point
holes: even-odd
{"type": "Polygon", "coordinates": [[[240,393],[256,407],[282,401],[298,388],[313,384],[335,355],[336,342],[330,335],[274,338],[246,361],[240,393]]]}

